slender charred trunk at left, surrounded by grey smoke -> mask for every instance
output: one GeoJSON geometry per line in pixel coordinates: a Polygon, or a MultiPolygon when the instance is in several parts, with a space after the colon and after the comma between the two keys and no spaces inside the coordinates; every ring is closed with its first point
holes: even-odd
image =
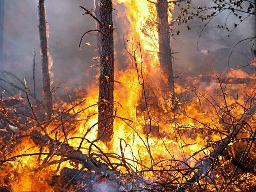
{"type": "Polygon", "coordinates": [[[39,37],[40,46],[42,54],[42,73],[43,73],[43,94],[45,107],[47,110],[47,119],[51,118],[52,114],[52,93],[50,86],[50,74],[49,74],[49,63],[48,63],[48,45],[46,36],[46,22],[45,22],[45,10],[44,10],[44,0],[39,0],[38,5],[39,14],[39,37]]]}

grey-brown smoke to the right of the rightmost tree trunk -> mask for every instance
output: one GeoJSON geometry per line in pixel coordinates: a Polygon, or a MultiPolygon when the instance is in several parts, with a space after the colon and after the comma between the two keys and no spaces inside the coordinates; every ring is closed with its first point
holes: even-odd
{"type": "MultiPolygon", "coordinates": [[[[192,7],[212,5],[214,3],[211,1],[192,1],[192,7]]],[[[176,9],[175,11],[175,15],[177,15],[178,10],[176,9]]],[[[207,25],[205,24],[208,20],[202,22],[194,18],[188,22],[191,27],[190,31],[186,29],[185,25],[178,27],[180,35],[174,35],[171,40],[173,52],[178,52],[173,55],[173,68],[177,76],[181,75],[180,69],[184,67],[187,68],[190,74],[193,72],[195,75],[205,72],[212,72],[213,74],[227,72],[229,56],[229,66],[232,68],[244,66],[252,61],[251,48],[253,42],[243,41],[237,46],[236,44],[241,40],[254,36],[254,18],[253,16],[249,17],[232,32],[226,29],[218,29],[218,25],[224,26],[226,24],[226,27],[232,30],[234,23],[239,23],[239,19],[233,13],[229,13],[230,11],[222,12],[207,25]]],[[[253,70],[253,67],[247,67],[244,70],[249,72],[253,70]]]]}

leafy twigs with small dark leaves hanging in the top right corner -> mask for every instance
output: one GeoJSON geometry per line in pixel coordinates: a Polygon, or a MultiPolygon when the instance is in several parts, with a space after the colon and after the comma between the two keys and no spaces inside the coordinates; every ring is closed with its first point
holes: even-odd
{"type": "Polygon", "coordinates": [[[212,0],[209,2],[211,3],[210,5],[196,7],[193,6],[191,0],[170,1],[170,3],[179,7],[179,14],[174,21],[177,21],[178,25],[185,23],[187,25],[187,29],[190,30],[190,26],[188,24],[189,20],[194,18],[198,18],[202,21],[212,20],[220,13],[226,12],[228,13],[228,17],[225,18],[225,23],[218,24],[217,27],[232,31],[244,20],[255,16],[255,3],[250,0],[212,0]],[[232,28],[229,28],[227,26],[227,20],[232,14],[237,19],[233,23],[232,28]]]}

